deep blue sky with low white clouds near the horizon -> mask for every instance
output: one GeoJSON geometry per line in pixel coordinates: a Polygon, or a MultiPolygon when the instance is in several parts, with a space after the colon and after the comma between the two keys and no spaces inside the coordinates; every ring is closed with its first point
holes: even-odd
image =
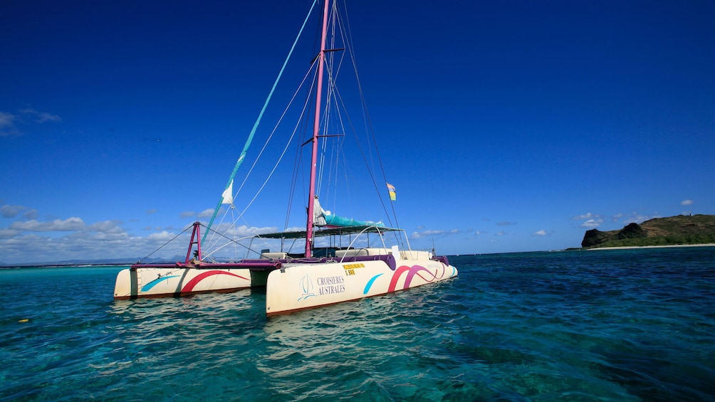
{"type": "MultiPolygon", "coordinates": [[[[0,4],[0,262],[137,258],[207,221],[310,6],[224,3],[0,4]]],[[[413,248],[715,213],[715,3],[351,3],[413,248]]]]}

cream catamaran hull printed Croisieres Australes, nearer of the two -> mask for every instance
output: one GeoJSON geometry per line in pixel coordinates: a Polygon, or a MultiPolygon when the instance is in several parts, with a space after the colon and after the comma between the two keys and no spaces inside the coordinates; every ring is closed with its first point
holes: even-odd
{"type": "Polygon", "coordinates": [[[268,275],[266,315],[378,296],[457,276],[455,267],[440,261],[393,261],[394,269],[382,260],[283,266],[268,275]]]}

